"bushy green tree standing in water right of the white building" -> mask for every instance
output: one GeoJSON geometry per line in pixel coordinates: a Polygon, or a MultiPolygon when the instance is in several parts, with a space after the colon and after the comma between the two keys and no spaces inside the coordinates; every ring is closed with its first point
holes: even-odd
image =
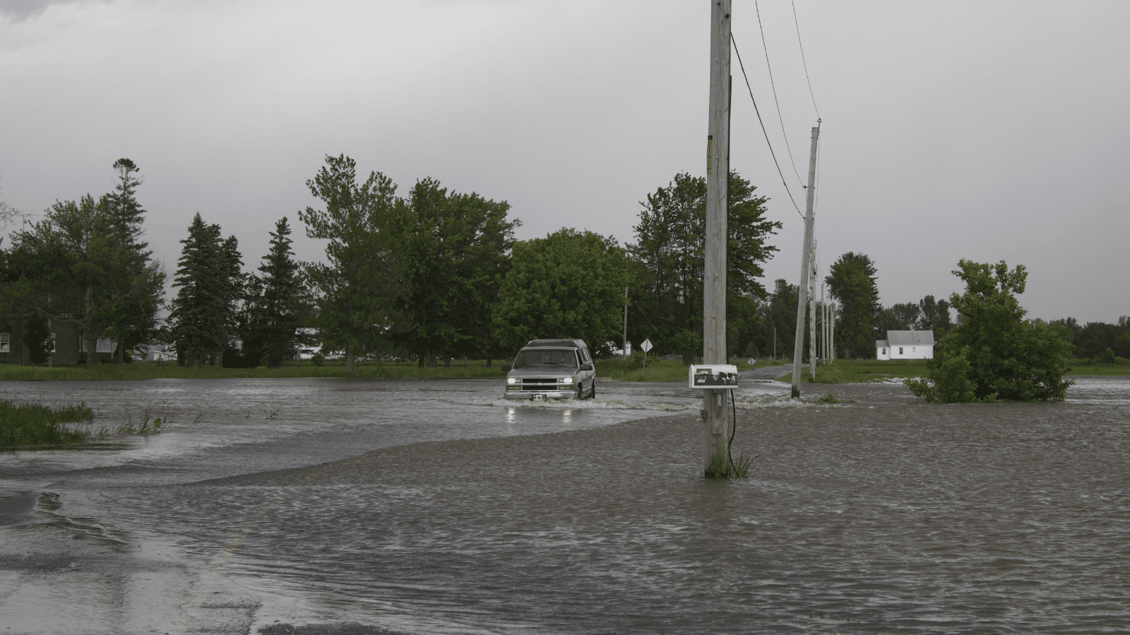
{"type": "Polygon", "coordinates": [[[965,293],[950,302],[962,323],[935,347],[928,379],[907,381],[910,389],[941,403],[1062,400],[1074,383],[1062,381],[1072,347],[1066,328],[1024,319],[1016,299],[1028,276],[1024,266],[962,260],[958,267],[965,293]]]}

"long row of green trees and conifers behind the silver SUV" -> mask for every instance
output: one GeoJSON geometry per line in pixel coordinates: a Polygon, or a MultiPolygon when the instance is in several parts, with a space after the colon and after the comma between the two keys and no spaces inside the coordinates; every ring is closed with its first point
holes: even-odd
{"type": "MultiPolygon", "coordinates": [[[[45,321],[56,320],[82,333],[87,351],[114,338],[119,363],[172,342],[181,364],[223,366],[279,366],[320,343],[353,372],[356,359],[373,356],[489,363],[533,338],[582,338],[607,354],[623,337],[626,305],[629,340],[651,338],[655,353],[687,358],[702,346],[703,177],[680,173],[649,194],[635,243],[573,227],[515,241],[520,221],[505,201],[433,179],[401,197],[388,176],[328,156],[306,182],[318,205],[297,212],[306,235],[325,242],[323,262],[295,260],[282,217],[257,271],[244,272],[235,236],[197,214],[166,305],[166,273],[141,240],[139,168],[130,159],[114,168],[113,192],[56,202],[0,249],[0,308],[24,340],[43,343],[45,321]]],[[[732,351],[766,328],[759,278],[781,227],[755,190],[731,173],[732,351]]],[[[88,366],[96,362],[86,354],[88,366]]]]}

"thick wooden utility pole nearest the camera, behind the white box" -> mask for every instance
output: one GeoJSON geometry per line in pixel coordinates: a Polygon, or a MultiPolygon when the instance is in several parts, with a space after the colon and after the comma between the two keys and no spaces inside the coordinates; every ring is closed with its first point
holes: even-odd
{"type": "MultiPolygon", "coordinates": [[[[730,0],[711,2],[710,129],[706,137],[706,262],[703,364],[725,364],[725,241],[730,183],[730,0]]],[[[729,390],[703,391],[703,470],[728,451],[729,390]]]]}

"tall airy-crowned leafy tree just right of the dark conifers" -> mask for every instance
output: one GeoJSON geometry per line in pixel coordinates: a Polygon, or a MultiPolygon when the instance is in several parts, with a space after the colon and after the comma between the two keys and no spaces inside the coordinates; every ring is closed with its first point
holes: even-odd
{"type": "Polygon", "coordinates": [[[393,302],[400,293],[392,258],[393,235],[388,225],[401,205],[397,186],[379,172],[357,183],[357,164],[340,155],[306,181],[324,210],[298,212],[306,236],[327,241],[327,263],[305,263],[318,306],[314,324],[327,350],[345,350],[346,373],[354,357],[388,342],[394,322],[393,302]]]}

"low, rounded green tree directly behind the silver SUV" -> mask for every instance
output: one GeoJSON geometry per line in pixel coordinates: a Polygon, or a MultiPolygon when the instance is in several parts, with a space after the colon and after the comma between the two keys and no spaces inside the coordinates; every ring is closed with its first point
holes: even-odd
{"type": "Polygon", "coordinates": [[[531,339],[580,338],[607,353],[619,340],[627,277],[612,237],[563,228],[514,243],[494,307],[495,334],[511,350],[531,339]]]}

